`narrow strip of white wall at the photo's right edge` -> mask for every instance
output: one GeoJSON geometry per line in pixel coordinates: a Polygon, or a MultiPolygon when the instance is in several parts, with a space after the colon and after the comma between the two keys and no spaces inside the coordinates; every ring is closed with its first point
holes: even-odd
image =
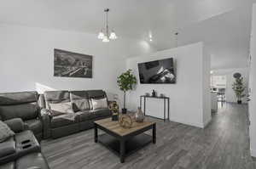
{"type": "Polygon", "coordinates": [[[251,88],[249,102],[249,119],[250,125],[250,144],[251,144],[251,155],[256,157],[256,3],[253,4],[253,21],[252,21],[252,36],[251,36],[251,49],[250,53],[252,56],[251,68],[250,68],[250,82],[249,87],[251,88]]]}

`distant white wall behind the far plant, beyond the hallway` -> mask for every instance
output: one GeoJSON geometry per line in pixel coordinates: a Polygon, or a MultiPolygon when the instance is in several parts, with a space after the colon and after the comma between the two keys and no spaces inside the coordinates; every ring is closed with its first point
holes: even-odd
{"type": "MultiPolygon", "coordinates": [[[[222,70],[213,70],[213,76],[226,76],[226,89],[225,89],[225,98],[227,102],[236,103],[236,94],[232,89],[232,84],[235,82],[235,78],[233,77],[234,73],[239,72],[243,77],[244,84],[246,86],[245,93],[247,94],[248,90],[248,76],[249,70],[248,68],[234,68],[234,69],[222,69],[222,70]]],[[[242,99],[243,103],[247,103],[247,98],[242,99]]]]}

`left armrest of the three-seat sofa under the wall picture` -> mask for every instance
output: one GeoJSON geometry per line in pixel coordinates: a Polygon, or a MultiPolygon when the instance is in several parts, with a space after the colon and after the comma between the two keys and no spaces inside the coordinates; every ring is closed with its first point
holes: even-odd
{"type": "Polygon", "coordinates": [[[50,120],[52,119],[52,115],[50,110],[42,109],[40,111],[40,120],[43,124],[43,138],[49,138],[50,137],[50,120]]]}

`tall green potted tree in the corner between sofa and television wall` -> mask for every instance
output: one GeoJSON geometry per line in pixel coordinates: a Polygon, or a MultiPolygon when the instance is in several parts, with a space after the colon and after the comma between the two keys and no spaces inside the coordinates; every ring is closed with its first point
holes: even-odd
{"type": "Polygon", "coordinates": [[[127,91],[132,90],[134,84],[137,83],[137,79],[136,76],[131,74],[131,70],[127,70],[118,76],[117,82],[120,90],[124,92],[124,108],[122,109],[122,113],[125,114],[127,111],[125,108],[125,94],[127,91]]]}

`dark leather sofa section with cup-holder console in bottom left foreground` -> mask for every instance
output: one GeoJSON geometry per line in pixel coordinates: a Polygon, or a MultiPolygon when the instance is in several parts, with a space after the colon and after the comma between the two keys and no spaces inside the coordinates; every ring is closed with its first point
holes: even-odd
{"type": "Polygon", "coordinates": [[[0,168],[49,169],[48,163],[41,153],[41,147],[32,131],[20,118],[14,118],[5,123],[15,132],[15,136],[0,143],[0,168]]]}

